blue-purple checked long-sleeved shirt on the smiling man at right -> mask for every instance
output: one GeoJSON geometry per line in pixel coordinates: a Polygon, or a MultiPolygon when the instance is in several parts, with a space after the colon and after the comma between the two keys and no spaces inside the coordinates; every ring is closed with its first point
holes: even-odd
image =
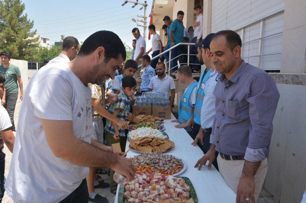
{"type": "Polygon", "coordinates": [[[229,80],[221,75],[214,95],[216,116],[210,143],[222,154],[245,154],[247,161],[263,161],[270,150],[272,120],[279,99],[274,80],[242,61],[229,80]]]}

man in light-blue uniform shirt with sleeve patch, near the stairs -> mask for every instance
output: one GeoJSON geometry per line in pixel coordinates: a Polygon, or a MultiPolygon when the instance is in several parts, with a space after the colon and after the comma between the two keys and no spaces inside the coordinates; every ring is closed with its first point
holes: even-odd
{"type": "MultiPolygon", "coordinates": [[[[141,83],[140,91],[146,92],[149,90],[149,84],[152,77],[155,76],[155,70],[150,66],[151,58],[149,55],[143,55],[141,57],[141,64],[144,67],[144,74],[141,79],[136,80],[137,83],[141,83]]],[[[135,96],[138,96],[135,94],[135,96]]]]}

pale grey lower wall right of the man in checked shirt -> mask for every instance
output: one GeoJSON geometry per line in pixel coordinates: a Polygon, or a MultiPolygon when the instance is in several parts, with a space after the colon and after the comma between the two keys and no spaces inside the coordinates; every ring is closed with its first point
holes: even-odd
{"type": "Polygon", "coordinates": [[[300,203],[306,189],[306,86],[276,86],[280,99],[264,187],[280,202],[300,203]]]}

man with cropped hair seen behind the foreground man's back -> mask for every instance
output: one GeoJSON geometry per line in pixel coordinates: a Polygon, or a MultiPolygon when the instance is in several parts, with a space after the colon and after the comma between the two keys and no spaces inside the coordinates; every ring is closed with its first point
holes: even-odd
{"type": "Polygon", "coordinates": [[[70,60],[76,57],[77,52],[79,51],[79,41],[72,36],[65,37],[63,40],[63,48],[58,57],[50,60],[49,63],[69,63],[70,60]]]}

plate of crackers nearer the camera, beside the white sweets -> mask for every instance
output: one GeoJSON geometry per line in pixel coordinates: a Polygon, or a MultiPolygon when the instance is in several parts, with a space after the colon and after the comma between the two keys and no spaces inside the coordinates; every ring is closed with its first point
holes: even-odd
{"type": "Polygon", "coordinates": [[[130,140],[129,148],[133,151],[144,152],[165,152],[175,147],[173,141],[159,137],[148,136],[136,140],[130,140]]]}

